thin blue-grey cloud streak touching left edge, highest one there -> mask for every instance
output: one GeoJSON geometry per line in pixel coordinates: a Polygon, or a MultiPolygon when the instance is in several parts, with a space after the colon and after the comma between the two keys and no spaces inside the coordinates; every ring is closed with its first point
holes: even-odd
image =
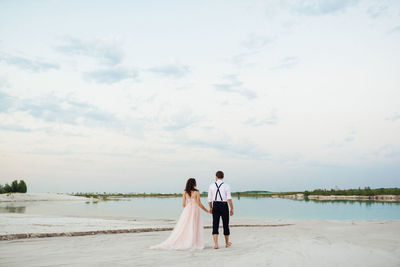
{"type": "Polygon", "coordinates": [[[0,62],[3,62],[7,65],[16,66],[20,69],[31,72],[42,72],[60,68],[59,65],[56,63],[51,63],[40,59],[29,59],[25,57],[11,56],[6,54],[0,55],[0,62]]]}

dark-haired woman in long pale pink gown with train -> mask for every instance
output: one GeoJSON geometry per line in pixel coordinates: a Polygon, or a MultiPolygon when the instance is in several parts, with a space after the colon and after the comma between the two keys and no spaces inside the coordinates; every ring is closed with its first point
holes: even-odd
{"type": "Polygon", "coordinates": [[[196,180],[189,178],[182,196],[183,211],[170,236],[150,249],[193,250],[204,248],[203,221],[200,208],[210,213],[200,201],[196,180]]]}

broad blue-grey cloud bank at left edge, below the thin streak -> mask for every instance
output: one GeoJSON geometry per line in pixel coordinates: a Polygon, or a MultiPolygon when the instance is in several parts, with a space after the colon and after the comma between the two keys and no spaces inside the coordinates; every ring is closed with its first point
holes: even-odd
{"type": "Polygon", "coordinates": [[[23,99],[0,91],[0,114],[2,113],[9,120],[0,121],[0,130],[19,132],[42,131],[45,133],[57,132],[69,136],[82,136],[82,133],[78,130],[79,128],[75,126],[84,126],[122,131],[124,134],[140,136],[144,125],[143,119],[133,117],[118,118],[113,113],[86,102],[54,95],[23,99]],[[16,123],[13,119],[14,115],[25,117],[20,120],[21,123],[16,123]],[[40,121],[35,122],[35,119],[40,121]],[[22,121],[27,120],[34,123],[30,125],[35,125],[35,127],[27,127],[26,124],[22,123],[22,121]],[[67,128],[60,128],[60,124],[65,124],[67,128]],[[41,126],[36,127],[36,125],[41,126]],[[72,126],[72,128],[68,126],[72,126]],[[75,130],[71,131],[71,129],[75,130]]]}

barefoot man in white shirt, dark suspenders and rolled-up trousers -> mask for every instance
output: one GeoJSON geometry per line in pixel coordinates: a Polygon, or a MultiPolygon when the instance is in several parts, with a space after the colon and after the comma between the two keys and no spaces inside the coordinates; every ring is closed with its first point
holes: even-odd
{"type": "Polygon", "coordinates": [[[231,196],[231,188],[227,183],[224,182],[224,173],[222,171],[217,171],[215,174],[215,183],[212,183],[208,188],[208,205],[210,206],[210,212],[213,215],[213,238],[215,246],[218,248],[218,228],[219,219],[222,217],[222,225],[224,227],[224,236],[226,247],[232,245],[229,242],[229,208],[228,203],[231,208],[230,215],[233,215],[233,203],[231,196]]]}

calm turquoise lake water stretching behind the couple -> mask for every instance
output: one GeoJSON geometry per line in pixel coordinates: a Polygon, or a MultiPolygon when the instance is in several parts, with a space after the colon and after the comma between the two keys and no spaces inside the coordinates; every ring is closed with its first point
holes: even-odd
{"type": "MultiPolygon", "coordinates": [[[[202,199],[206,206],[206,199],[202,199]]],[[[298,201],[277,198],[235,198],[235,216],[255,219],[400,220],[400,203],[298,201]]],[[[129,198],[119,201],[36,201],[0,203],[0,213],[103,218],[176,219],[180,198],[129,198]]],[[[203,213],[204,216],[208,216],[203,213]]]]}

